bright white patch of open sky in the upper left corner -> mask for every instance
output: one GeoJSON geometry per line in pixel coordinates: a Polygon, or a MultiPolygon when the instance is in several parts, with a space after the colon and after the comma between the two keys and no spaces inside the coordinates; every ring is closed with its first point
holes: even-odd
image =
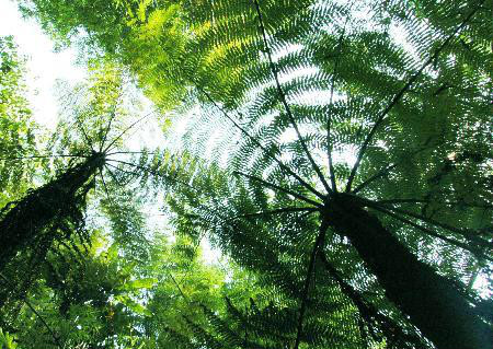
{"type": "Polygon", "coordinates": [[[54,51],[50,38],[32,19],[22,19],[18,5],[11,0],[0,0],[0,36],[12,35],[19,54],[26,56],[27,85],[36,123],[54,128],[57,115],[55,82],[64,79],[70,83],[83,80],[83,67],[76,65],[74,49],[54,51]]]}

